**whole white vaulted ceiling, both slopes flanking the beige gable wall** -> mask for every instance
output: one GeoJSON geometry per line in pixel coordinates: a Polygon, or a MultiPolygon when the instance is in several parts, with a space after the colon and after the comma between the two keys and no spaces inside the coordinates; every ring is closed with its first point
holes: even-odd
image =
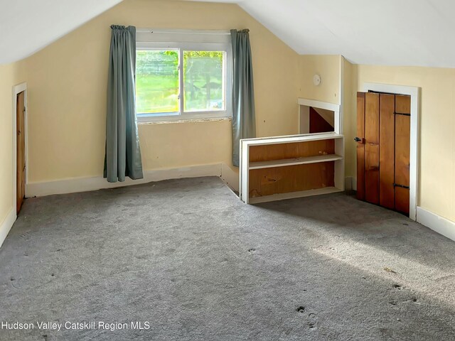
{"type": "MultiPolygon", "coordinates": [[[[0,63],[30,55],[120,1],[0,0],[0,63]]],[[[453,0],[202,1],[238,4],[300,54],[455,67],[453,0]]]]}

